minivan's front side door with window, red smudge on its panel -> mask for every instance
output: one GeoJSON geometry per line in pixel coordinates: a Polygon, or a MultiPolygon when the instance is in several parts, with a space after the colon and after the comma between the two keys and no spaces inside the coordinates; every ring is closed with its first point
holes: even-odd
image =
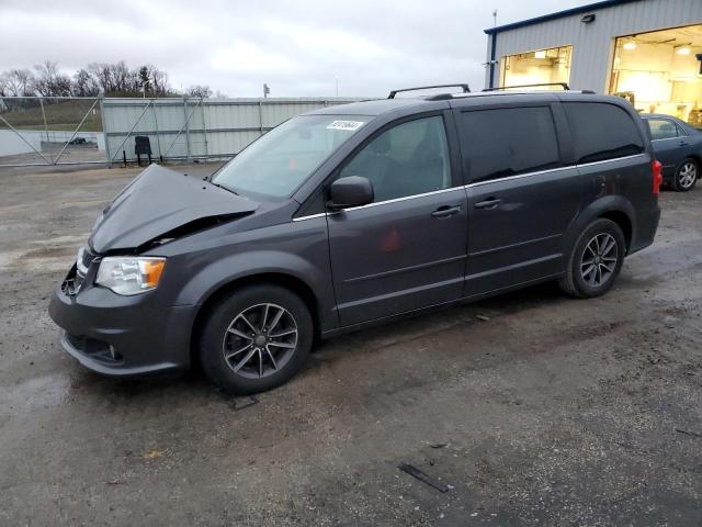
{"type": "Polygon", "coordinates": [[[341,326],[461,296],[467,215],[454,150],[438,113],[382,128],[340,168],[375,193],[327,214],[341,326]]]}

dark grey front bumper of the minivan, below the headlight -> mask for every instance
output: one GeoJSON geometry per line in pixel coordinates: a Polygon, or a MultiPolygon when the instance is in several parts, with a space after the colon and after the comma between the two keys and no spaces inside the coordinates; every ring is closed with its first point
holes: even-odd
{"type": "Polygon", "coordinates": [[[70,295],[59,284],[48,313],[64,329],[61,346],[99,373],[134,377],[190,366],[196,306],[154,306],[154,293],[122,296],[86,284],[70,295]]]}

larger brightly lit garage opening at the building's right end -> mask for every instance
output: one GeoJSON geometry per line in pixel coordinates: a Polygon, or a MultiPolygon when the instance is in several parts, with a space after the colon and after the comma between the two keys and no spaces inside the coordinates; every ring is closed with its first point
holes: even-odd
{"type": "Polygon", "coordinates": [[[665,113],[702,126],[702,24],[615,40],[610,93],[642,113],[665,113]]]}

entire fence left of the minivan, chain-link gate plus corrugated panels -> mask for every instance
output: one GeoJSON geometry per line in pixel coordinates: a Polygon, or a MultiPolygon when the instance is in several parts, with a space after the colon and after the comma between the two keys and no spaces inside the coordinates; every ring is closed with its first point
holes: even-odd
{"type": "Polygon", "coordinates": [[[223,159],[281,122],[358,99],[0,98],[0,167],[223,159]]]}

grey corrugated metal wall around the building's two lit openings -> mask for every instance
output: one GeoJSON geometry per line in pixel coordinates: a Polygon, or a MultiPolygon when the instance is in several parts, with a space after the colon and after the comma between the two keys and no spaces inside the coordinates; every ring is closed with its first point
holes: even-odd
{"type": "MultiPolygon", "coordinates": [[[[597,15],[590,24],[580,22],[581,13],[497,33],[495,85],[499,83],[505,56],[573,45],[570,87],[604,93],[614,37],[702,23],[702,0],[639,0],[589,12],[597,15]]],[[[488,37],[488,61],[494,37],[488,37]]],[[[485,86],[489,86],[489,68],[485,86]]]]}

